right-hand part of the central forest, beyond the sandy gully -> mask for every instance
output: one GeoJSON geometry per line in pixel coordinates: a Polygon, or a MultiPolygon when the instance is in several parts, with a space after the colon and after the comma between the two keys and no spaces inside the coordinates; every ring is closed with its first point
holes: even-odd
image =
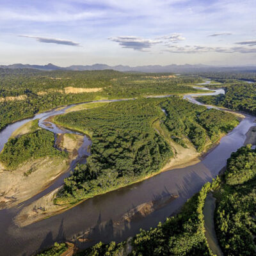
{"type": "Polygon", "coordinates": [[[185,142],[188,137],[199,152],[204,150],[207,141],[216,142],[221,132],[227,133],[238,124],[234,115],[216,109],[207,110],[177,97],[166,100],[161,106],[167,114],[164,125],[173,140],[188,147],[185,142]]]}

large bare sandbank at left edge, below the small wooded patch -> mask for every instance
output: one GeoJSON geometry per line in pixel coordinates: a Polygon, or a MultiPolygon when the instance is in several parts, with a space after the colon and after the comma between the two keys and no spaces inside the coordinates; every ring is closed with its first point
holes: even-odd
{"type": "Polygon", "coordinates": [[[68,161],[60,157],[32,160],[12,171],[0,167],[0,209],[28,200],[67,170],[68,161]]]}

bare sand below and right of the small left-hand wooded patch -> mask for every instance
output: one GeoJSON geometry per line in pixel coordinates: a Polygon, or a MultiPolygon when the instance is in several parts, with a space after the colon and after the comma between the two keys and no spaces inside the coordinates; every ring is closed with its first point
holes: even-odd
{"type": "MultiPolygon", "coordinates": [[[[25,125],[24,131],[27,128],[25,125]]],[[[19,132],[24,131],[19,129],[19,132]]],[[[59,150],[68,152],[68,159],[30,159],[15,170],[5,170],[0,166],[0,209],[13,207],[37,195],[70,170],[70,164],[78,156],[77,148],[83,144],[83,136],[61,134],[56,141],[59,150]]]]}

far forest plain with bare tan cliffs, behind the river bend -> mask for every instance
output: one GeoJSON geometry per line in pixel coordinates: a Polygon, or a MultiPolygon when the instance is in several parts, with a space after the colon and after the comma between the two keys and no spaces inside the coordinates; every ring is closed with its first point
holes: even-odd
{"type": "Polygon", "coordinates": [[[45,72],[0,68],[0,130],[38,111],[77,102],[197,92],[187,85],[200,81],[198,77],[168,78],[164,74],[113,70],[45,72]]]}

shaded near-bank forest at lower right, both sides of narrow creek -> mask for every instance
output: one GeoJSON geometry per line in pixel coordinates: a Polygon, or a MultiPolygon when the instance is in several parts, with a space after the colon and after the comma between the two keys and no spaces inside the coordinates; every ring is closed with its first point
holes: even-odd
{"type": "MultiPolygon", "coordinates": [[[[256,152],[251,145],[239,148],[228,159],[223,177],[205,184],[177,216],[168,218],[156,228],[141,230],[133,237],[129,255],[212,255],[204,236],[202,212],[210,191],[214,191],[217,198],[214,222],[224,255],[256,255],[256,173],[250,177],[245,175],[244,179],[246,170],[255,169],[255,160],[256,152]]],[[[122,255],[126,243],[98,243],[77,255],[122,255]]]]}

